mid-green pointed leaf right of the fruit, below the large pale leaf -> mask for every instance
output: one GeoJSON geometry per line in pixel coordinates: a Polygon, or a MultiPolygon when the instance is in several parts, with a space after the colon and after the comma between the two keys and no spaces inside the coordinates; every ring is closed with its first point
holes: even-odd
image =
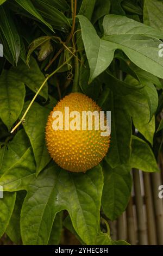
{"type": "MultiPolygon", "coordinates": [[[[127,76],[125,81],[133,86],[139,84],[139,82],[131,76],[127,76]]],[[[158,95],[155,92],[153,83],[146,81],[144,84],[146,84],[146,86],[142,89],[133,90],[133,93],[122,97],[122,101],[126,111],[133,117],[136,129],[153,144],[153,135],[155,132],[155,119],[153,114],[158,106],[158,95]],[[149,100],[151,102],[150,106],[149,100]],[[151,115],[153,116],[152,120],[151,115]]]]}

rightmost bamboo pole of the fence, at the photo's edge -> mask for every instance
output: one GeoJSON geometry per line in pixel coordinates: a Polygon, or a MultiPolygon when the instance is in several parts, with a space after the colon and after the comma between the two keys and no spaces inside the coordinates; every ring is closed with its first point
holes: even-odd
{"type": "Polygon", "coordinates": [[[158,245],[163,245],[163,206],[162,199],[158,197],[159,190],[158,187],[162,185],[161,173],[151,173],[152,177],[152,187],[153,187],[153,199],[155,208],[155,218],[156,218],[156,234],[158,239],[158,245]]]}

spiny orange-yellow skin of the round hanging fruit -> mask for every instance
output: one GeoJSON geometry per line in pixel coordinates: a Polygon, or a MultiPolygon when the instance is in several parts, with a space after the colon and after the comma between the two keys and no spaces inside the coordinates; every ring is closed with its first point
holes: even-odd
{"type": "MultiPolygon", "coordinates": [[[[46,126],[46,142],[49,154],[62,168],[71,172],[86,172],[95,167],[106,155],[110,137],[101,136],[101,130],[53,130],[53,112],[61,111],[64,117],[65,107],[71,111],[101,111],[102,109],[88,96],[71,93],[60,100],[49,114],[46,126]]],[[[82,123],[82,122],[81,122],[82,123]]]]}

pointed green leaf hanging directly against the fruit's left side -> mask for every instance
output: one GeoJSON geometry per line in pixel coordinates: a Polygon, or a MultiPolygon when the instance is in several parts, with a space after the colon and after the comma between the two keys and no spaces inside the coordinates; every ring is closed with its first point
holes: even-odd
{"type": "MultiPolygon", "coordinates": [[[[28,105],[29,102],[26,102],[23,113],[26,111],[28,105]]],[[[25,123],[23,123],[24,129],[33,148],[37,175],[51,160],[45,142],[45,127],[48,114],[49,110],[47,108],[41,107],[38,103],[34,102],[26,115],[25,123]]]]}

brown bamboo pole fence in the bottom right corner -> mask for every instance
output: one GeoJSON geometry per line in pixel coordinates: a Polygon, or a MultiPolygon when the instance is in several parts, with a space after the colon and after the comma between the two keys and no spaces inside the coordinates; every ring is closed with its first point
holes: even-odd
{"type": "MultiPolygon", "coordinates": [[[[163,170],[160,160],[160,169],[163,170]]],[[[133,192],[127,209],[110,224],[112,239],[127,240],[131,245],[163,245],[163,199],[159,186],[163,172],[146,173],[133,169],[133,192]]]]}

